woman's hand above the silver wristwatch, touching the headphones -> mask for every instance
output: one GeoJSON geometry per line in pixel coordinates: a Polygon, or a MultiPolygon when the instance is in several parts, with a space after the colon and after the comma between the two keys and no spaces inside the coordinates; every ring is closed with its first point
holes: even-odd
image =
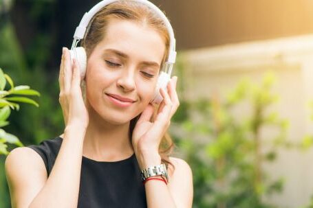
{"type": "Polygon", "coordinates": [[[158,108],[155,120],[151,122],[154,108],[151,104],[140,115],[133,130],[132,143],[141,170],[160,163],[158,153],[160,142],[171,123],[171,117],[176,112],[180,102],[176,93],[177,77],[171,78],[167,92],[160,89],[163,100],[158,108]]]}

